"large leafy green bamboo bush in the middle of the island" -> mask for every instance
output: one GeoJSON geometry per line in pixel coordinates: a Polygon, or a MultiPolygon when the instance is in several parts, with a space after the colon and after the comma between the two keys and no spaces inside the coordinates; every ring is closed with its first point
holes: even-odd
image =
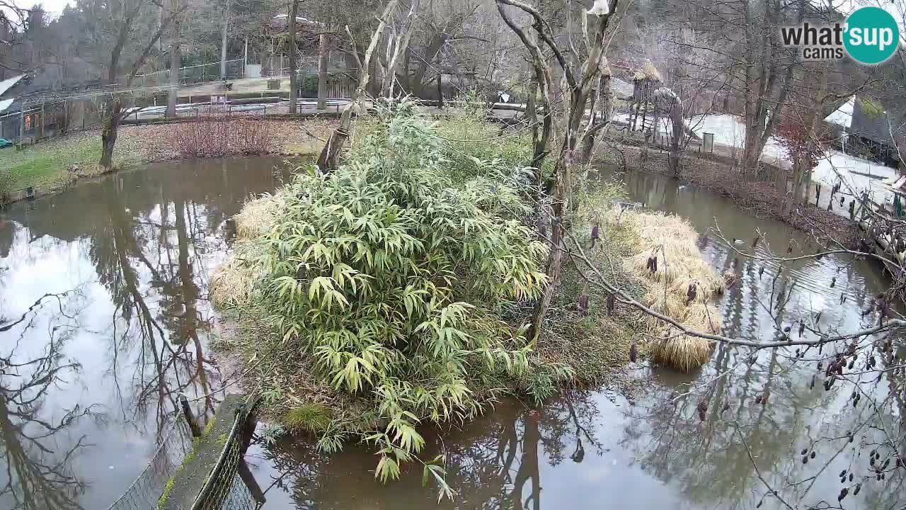
{"type": "Polygon", "coordinates": [[[382,481],[423,446],[420,420],[474,417],[494,394],[489,375],[529,370],[527,341],[496,311],[546,283],[546,248],[516,221],[516,191],[455,185],[432,126],[400,111],[335,172],[297,174],[250,261],[265,269],[285,362],[305,358],[337,390],[376,400],[388,425],[366,439],[382,481]]]}

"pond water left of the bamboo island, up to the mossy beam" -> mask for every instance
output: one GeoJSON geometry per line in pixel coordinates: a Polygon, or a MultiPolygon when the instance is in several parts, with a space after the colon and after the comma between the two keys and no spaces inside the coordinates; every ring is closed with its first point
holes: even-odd
{"type": "Polygon", "coordinates": [[[152,165],[0,213],[0,508],[107,508],[178,394],[220,386],[207,281],[278,163],[152,165]]]}

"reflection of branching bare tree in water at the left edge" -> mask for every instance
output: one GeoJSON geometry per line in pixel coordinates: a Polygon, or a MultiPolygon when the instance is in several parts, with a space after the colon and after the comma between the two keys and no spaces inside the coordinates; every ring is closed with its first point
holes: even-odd
{"type": "MultiPolygon", "coordinates": [[[[72,472],[72,459],[85,437],[69,437],[70,427],[94,414],[95,407],[43,407],[52,387],[72,384],[81,366],[63,356],[63,346],[78,328],[67,308],[76,291],[45,295],[16,319],[0,319],[0,334],[13,341],[0,347],[0,505],[12,510],[80,508],[85,484],[72,472]],[[26,335],[34,339],[34,317],[56,306],[43,352],[24,354],[26,335]],[[60,415],[60,416],[56,416],[60,415]],[[59,445],[68,444],[64,448],[59,445]]],[[[95,415],[95,417],[99,417],[95,415]]]]}

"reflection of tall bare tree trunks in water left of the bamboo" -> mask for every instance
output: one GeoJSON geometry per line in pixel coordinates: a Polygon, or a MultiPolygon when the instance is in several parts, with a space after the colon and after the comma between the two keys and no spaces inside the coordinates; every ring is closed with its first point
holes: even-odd
{"type": "Polygon", "coordinates": [[[121,418],[144,427],[154,417],[156,436],[180,393],[200,397],[196,413],[213,416],[217,393],[212,390],[220,381],[219,368],[205,353],[213,313],[199,283],[207,288],[207,275],[196,268],[206,267],[206,237],[223,214],[204,216],[212,211],[182,193],[161,190],[159,201],[138,213],[113,193],[106,201],[109,221],[98,224],[92,236],[92,261],[116,306],[110,372],[133,372],[134,394],[116,388],[121,418]]]}

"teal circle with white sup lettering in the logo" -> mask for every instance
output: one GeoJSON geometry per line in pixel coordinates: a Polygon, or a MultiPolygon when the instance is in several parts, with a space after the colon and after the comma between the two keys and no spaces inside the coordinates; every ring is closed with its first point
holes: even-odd
{"type": "Polygon", "coordinates": [[[881,7],[862,7],[846,18],[843,46],[860,64],[881,64],[900,46],[900,27],[881,7]]]}

